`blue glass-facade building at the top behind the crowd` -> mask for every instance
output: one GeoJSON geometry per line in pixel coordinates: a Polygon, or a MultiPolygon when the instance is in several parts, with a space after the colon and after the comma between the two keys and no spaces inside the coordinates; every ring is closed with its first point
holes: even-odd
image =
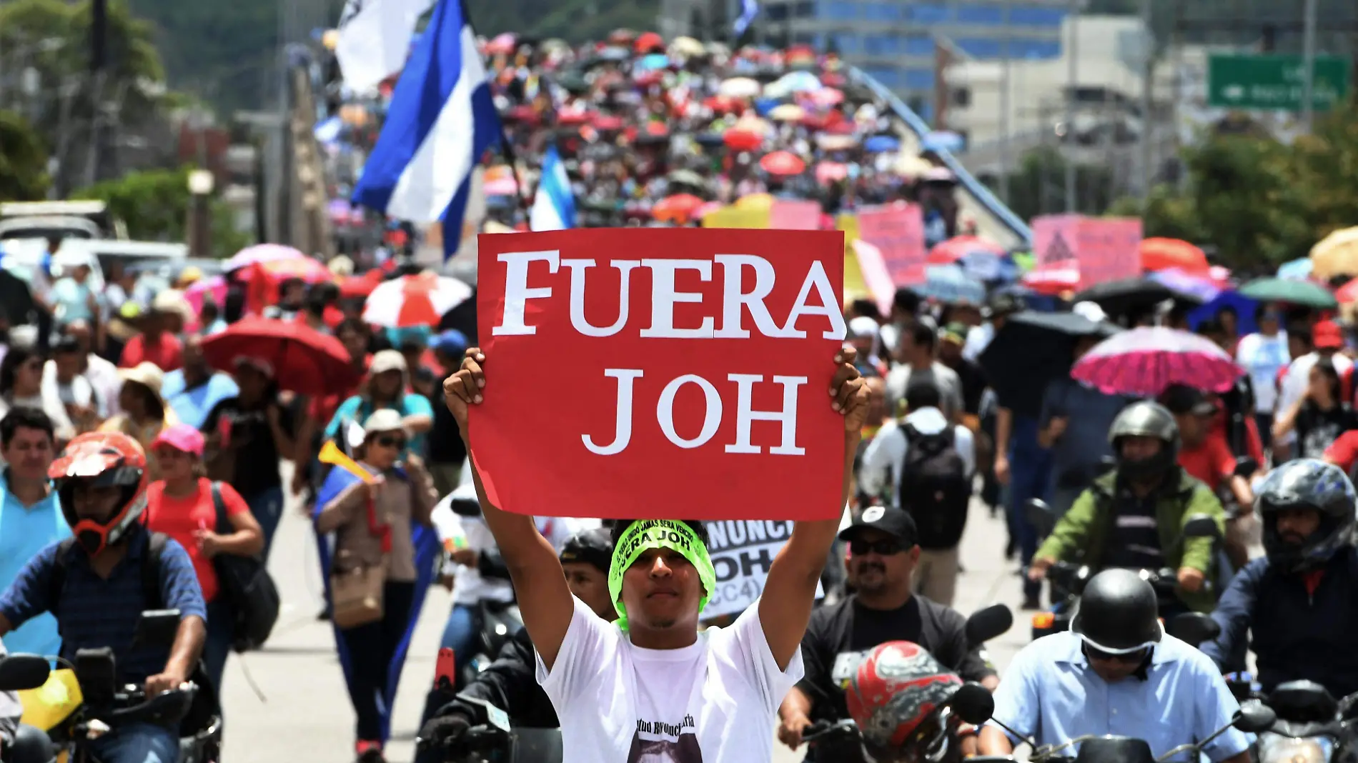
{"type": "Polygon", "coordinates": [[[978,60],[1059,58],[1070,0],[763,0],[765,39],[837,50],[933,119],[937,37],[978,60]]]}

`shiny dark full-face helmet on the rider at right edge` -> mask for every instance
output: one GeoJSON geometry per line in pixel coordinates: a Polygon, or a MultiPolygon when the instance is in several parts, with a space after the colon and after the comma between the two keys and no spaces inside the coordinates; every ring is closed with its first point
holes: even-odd
{"type": "Polygon", "coordinates": [[[1351,546],[1355,501],[1353,482],[1335,464],[1298,459],[1268,472],[1255,494],[1268,562],[1286,572],[1302,572],[1351,546]],[[1320,512],[1320,527],[1301,546],[1285,543],[1278,535],[1278,513],[1287,509],[1320,512]]]}

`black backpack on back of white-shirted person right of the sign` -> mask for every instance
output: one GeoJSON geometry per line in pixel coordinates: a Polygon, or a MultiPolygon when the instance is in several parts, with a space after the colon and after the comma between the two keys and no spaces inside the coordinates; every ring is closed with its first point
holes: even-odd
{"type": "Polygon", "coordinates": [[[899,506],[915,520],[921,548],[952,548],[961,540],[971,500],[957,433],[948,426],[936,434],[921,434],[910,424],[902,430],[910,445],[900,466],[899,506]]]}

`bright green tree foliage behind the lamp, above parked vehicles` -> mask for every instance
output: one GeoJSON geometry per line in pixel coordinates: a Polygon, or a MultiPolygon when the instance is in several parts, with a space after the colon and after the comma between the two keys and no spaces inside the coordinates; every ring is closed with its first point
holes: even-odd
{"type": "MultiPolygon", "coordinates": [[[[98,198],[109,205],[109,212],[128,225],[133,239],[182,242],[186,239],[189,205],[189,168],[145,170],[128,172],[115,181],[105,181],[71,194],[72,198],[98,198]]],[[[247,236],[235,231],[231,209],[220,198],[212,205],[213,255],[227,257],[249,244],[247,236]]]]}

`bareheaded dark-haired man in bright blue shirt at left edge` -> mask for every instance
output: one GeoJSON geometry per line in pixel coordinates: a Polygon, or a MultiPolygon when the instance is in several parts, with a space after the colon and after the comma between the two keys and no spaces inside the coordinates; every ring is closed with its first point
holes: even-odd
{"type": "MultiPolygon", "coordinates": [[[[61,515],[61,501],[48,479],[56,455],[53,425],[38,409],[15,407],[0,418],[0,591],[19,577],[19,570],[45,547],[68,538],[71,527],[61,515]]],[[[56,654],[61,648],[57,619],[33,618],[4,637],[10,652],[56,654]]]]}

